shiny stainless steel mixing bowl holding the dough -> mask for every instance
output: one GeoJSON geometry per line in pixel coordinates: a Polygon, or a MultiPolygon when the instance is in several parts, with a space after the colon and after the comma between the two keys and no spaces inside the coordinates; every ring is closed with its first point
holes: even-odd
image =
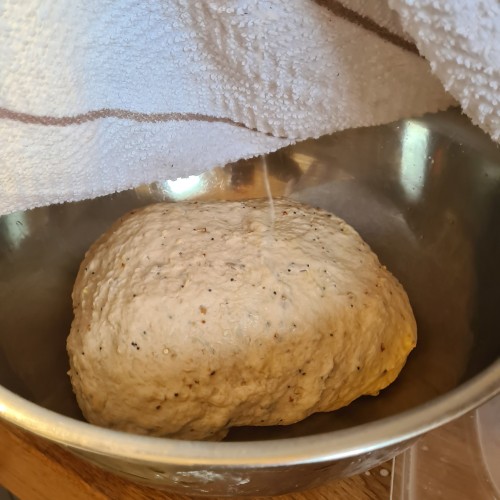
{"type": "MultiPolygon", "coordinates": [[[[0,416],[132,480],[190,494],[280,494],[357,474],[500,392],[500,150],[456,111],[310,140],[267,157],[275,194],[344,217],[400,279],[417,349],[377,398],[225,442],[85,423],[65,340],[90,243],[158,200],[264,196],[262,159],[0,218],[0,416]]],[[[322,353],[318,353],[321,356],[322,353]]]]}

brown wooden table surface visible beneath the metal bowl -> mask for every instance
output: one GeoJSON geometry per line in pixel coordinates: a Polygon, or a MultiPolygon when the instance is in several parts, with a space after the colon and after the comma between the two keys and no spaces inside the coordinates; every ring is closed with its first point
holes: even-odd
{"type": "MultiPolygon", "coordinates": [[[[360,476],[274,498],[388,500],[390,483],[391,463],[387,463],[360,476]]],[[[0,484],[21,500],[191,500],[185,495],[138,486],[1,420],[0,484]]]]}

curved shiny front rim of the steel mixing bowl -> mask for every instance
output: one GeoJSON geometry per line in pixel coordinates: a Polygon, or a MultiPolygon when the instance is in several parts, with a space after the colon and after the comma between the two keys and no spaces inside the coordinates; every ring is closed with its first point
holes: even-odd
{"type": "Polygon", "coordinates": [[[267,441],[207,442],[105,429],[38,406],[0,385],[0,418],[83,452],[176,467],[259,468],[345,459],[410,440],[500,394],[500,359],[424,404],[348,429],[267,441]]]}

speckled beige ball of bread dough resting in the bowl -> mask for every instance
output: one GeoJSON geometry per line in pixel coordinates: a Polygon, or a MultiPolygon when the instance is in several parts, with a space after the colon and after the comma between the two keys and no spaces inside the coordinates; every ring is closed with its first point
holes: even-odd
{"type": "Polygon", "coordinates": [[[92,423],[181,439],[284,425],[394,381],[408,297],[341,219],[290,200],[161,203],[87,252],[70,376],[92,423]]]}

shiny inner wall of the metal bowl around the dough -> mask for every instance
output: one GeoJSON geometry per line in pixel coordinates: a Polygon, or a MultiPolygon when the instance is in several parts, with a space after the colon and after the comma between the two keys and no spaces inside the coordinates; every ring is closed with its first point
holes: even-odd
{"type": "MultiPolygon", "coordinates": [[[[377,398],[283,428],[274,439],[370,422],[444,394],[500,355],[500,150],[456,112],[350,130],[267,156],[274,196],[352,224],[406,288],[418,346],[377,398]]],[[[152,202],[265,196],[262,159],[79,203],[0,217],[0,384],[81,419],[66,375],[71,289],[89,245],[152,202]]],[[[318,353],[320,356],[321,353],[318,353]]]]}

